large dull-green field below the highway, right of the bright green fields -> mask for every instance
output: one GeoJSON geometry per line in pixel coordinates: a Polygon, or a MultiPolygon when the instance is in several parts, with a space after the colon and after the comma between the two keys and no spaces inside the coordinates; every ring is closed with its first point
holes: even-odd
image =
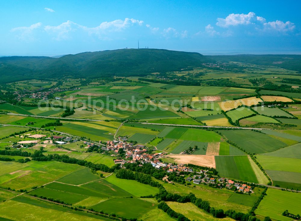
{"type": "Polygon", "coordinates": [[[287,146],[284,142],[251,130],[219,131],[239,147],[251,153],[266,153],[287,146]]]}

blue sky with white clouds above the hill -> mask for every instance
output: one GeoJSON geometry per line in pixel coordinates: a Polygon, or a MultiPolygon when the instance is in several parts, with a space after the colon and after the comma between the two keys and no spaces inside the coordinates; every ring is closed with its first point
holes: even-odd
{"type": "Polygon", "coordinates": [[[300,1],[0,1],[0,55],[300,53],[300,1]]]}

